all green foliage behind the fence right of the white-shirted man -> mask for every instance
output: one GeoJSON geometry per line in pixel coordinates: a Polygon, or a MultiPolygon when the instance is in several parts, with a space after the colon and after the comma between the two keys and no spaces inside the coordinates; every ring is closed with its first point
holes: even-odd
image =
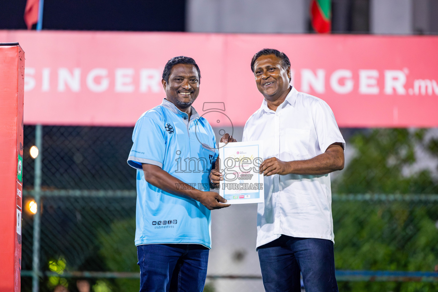
{"type": "MultiPolygon", "coordinates": [[[[333,183],[333,193],[438,193],[430,171],[406,175],[425,130],[375,129],[353,136],[354,158],[333,183]]],[[[335,264],[342,270],[434,271],[438,264],[438,204],[415,201],[334,201],[335,264]]],[[[413,282],[339,282],[340,291],[438,291],[413,282]]]]}

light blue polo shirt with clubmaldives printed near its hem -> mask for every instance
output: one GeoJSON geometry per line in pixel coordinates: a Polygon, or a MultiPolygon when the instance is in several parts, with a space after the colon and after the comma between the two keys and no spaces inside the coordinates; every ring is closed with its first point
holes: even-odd
{"type": "MultiPolygon", "coordinates": [[[[219,155],[208,121],[163,99],[135,123],[128,164],[137,169],[135,245],[196,243],[211,248],[210,210],[187,197],[146,182],[142,163],[158,165],[184,183],[209,191],[208,176],[219,155]]],[[[178,187],[178,186],[177,186],[178,187]]]]}

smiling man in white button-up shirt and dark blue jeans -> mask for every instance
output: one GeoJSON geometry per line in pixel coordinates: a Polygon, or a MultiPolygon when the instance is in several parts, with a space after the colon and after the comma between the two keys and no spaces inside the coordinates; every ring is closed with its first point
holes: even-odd
{"type": "MultiPolygon", "coordinates": [[[[257,216],[265,290],[298,292],[301,272],[306,292],[338,291],[329,172],[343,169],[345,141],[327,103],[289,85],[284,53],[259,51],[251,70],[264,100],[247,120],[242,141],[265,145],[265,203],[257,216]]],[[[217,172],[210,178],[221,179],[217,172]]]]}

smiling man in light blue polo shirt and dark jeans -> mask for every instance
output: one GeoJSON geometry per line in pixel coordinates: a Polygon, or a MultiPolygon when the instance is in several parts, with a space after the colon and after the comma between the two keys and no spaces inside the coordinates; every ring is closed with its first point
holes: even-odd
{"type": "Polygon", "coordinates": [[[230,206],[210,192],[215,134],[191,106],[201,73],[192,58],[170,59],[166,99],[135,123],[128,164],[137,169],[135,245],[140,292],[201,292],[211,247],[210,210],[230,206]]]}

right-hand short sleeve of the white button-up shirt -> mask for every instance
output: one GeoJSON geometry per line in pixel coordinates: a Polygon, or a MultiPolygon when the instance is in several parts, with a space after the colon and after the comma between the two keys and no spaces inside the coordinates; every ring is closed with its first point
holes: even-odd
{"type": "Polygon", "coordinates": [[[319,148],[322,152],[325,152],[333,143],[342,143],[342,148],[345,150],[345,140],[339,131],[335,115],[325,101],[318,100],[316,102],[313,108],[313,120],[319,148]]]}

